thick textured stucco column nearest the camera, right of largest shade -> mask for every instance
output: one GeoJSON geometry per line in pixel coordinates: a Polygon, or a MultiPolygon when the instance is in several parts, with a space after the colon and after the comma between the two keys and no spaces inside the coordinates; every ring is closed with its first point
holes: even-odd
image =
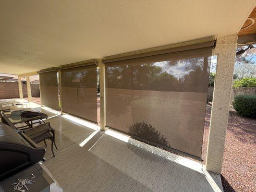
{"type": "Polygon", "coordinates": [[[237,36],[217,39],[214,55],[218,55],[215,76],[206,169],[220,174],[229,116],[237,36]]]}

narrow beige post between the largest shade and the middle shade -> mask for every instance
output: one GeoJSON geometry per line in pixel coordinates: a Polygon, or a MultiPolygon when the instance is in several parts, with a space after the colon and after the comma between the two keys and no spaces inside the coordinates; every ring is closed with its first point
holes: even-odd
{"type": "Polygon", "coordinates": [[[99,66],[99,89],[100,89],[100,130],[105,131],[106,125],[106,74],[105,64],[102,59],[98,60],[99,66]]]}

